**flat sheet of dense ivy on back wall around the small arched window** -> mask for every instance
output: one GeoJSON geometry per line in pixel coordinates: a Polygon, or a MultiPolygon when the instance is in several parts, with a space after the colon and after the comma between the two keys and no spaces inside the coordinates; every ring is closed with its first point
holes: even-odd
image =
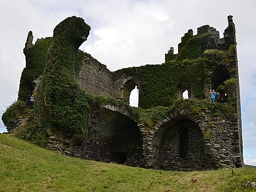
{"type": "Polygon", "coordinates": [[[169,61],[162,65],[144,65],[120,69],[114,74],[139,77],[141,81],[139,105],[141,108],[172,106],[176,100],[177,86],[189,82],[196,98],[204,98],[203,59],[169,61]]]}

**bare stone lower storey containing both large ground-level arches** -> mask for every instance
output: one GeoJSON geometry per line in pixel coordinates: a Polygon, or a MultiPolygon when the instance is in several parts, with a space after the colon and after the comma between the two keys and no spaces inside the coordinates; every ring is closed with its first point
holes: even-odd
{"type": "Polygon", "coordinates": [[[69,142],[65,146],[50,137],[49,148],[87,160],[161,170],[243,166],[236,117],[212,117],[209,110],[200,116],[174,110],[161,123],[145,127],[112,110],[94,112],[82,145],[69,148],[69,142]]]}

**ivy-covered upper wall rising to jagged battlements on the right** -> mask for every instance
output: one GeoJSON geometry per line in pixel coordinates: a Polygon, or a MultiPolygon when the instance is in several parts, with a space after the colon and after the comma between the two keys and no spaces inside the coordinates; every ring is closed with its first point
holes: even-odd
{"type": "MultiPolygon", "coordinates": [[[[231,30],[232,19],[228,18],[228,21],[228,34],[224,36],[234,36],[235,29],[231,30]]],[[[113,77],[115,82],[119,82],[119,87],[125,84],[124,79],[127,77],[137,82],[141,108],[170,106],[182,98],[180,95],[185,90],[189,91],[190,98],[209,98],[210,90],[220,88],[236,106],[236,99],[232,99],[236,90],[227,89],[224,83],[228,79],[238,78],[236,45],[234,41],[225,40],[219,39],[219,32],[208,25],[197,28],[195,36],[193,30],[189,30],[181,38],[179,52],[174,55],[171,48],[162,65],[120,69],[114,72],[113,77]]],[[[115,86],[115,89],[118,87],[115,86]]]]}

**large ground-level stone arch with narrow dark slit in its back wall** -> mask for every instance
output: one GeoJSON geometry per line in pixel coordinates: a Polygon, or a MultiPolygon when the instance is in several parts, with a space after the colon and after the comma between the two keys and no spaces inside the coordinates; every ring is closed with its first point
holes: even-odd
{"type": "Polygon", "coordinates": [[[215,162],[205,146],[200,117],[174,110],[156,125],[155,166],[162,170],[206,170],[215,162]]]}

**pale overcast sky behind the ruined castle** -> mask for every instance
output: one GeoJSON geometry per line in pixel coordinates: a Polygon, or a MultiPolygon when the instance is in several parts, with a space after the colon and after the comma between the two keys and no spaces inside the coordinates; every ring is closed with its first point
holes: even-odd
{"type": "MultiPolygon", "coordinates": [[[[110,71],[164,63],[170,47],[177,53],[181,36],[209,24],[221,37],[233,15],[238,42],[243,152],[245,164],[256,166],[256,1],[255,0],[8,0],[0,6],[0,115],[17,99],[22,53],[28,32],[34,42],[53,36],[68,16],[91,26],[80,49],[110,71]]],[[[0,132],[5,131],[0,121],[0,132]]]]}

